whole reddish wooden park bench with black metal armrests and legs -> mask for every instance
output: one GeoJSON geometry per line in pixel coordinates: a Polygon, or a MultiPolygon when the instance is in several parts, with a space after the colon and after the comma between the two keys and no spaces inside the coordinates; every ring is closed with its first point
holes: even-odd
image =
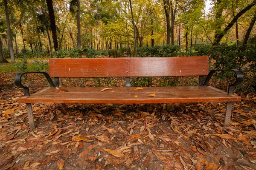
{"type": "Polygon", "coordinates": [[[208,73],[208,57],[152,57],[152,58],[84,58],[84,59],[50,59],[49,74],[44,74],[51,87],[35,94],[29,94],[29,88],[22,85],[18,73],[15,83],[23,88],[24,97],[18,102],[26,103],[30,128],[34,129],[34,117],[31,103],[184,103],[184,102],[227,102],[224,126],[229,126],[232,102],[241,101],[240,96],[233,95],[234,87],[242,82],[239,70],[226,70],[236,73],[236,81],[229,86],[228,92],[207,86],[212,75],[219,70],[208,73]],[[142,90],[130,87],[130,77],[176,77],[199,76],[196,87],[144,87],[142,90]],[[206,78],[205,78],[206,76],[206,78]],[[54,77],[54,83],[50,77],[54,77]],[[59,77],[126,77],[126,87],[113,88],[100,92],[104,88],[59,88],[65,93],[55,93],[59,77]],[[148,96],[156,94],[155,96],[148,96]],[[135,97],[137,96],[137,97],[135,97]]]}

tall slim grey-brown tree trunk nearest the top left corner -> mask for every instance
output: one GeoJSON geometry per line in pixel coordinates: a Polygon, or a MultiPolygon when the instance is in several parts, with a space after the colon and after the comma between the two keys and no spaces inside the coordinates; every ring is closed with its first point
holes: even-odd
{"type": "Polygon", "coordinates": [[[12,31],[10,26],[10,17],[8,12],[7,0],[3,0],[3,4],[5,8],[5,13],[6,13],[7,36],[8,36],[8,46],[10,49],[10,57],[11,57],[11,61],[15,62],[13,45],[12,45],[12,31]]]}

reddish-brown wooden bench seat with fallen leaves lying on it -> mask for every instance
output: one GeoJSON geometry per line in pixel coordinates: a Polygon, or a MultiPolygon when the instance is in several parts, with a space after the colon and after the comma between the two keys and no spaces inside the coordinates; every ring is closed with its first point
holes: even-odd
{"type": "Polygon", "coordinates": [[[31,96],[21,97],[24,103],[183,103],[183,102],[237,102],[240,96],[227,95],[226,92],[211,86],[200,87],[145,87],[113,88],[100,92],[103,88],[60,88],[67,93],[55,92],[55,88],[45,88],[31,96]],[[155,97],[147,96],[155,93],[155,97]],[[138,97],[134,97],[137,95],[138,97]]]}

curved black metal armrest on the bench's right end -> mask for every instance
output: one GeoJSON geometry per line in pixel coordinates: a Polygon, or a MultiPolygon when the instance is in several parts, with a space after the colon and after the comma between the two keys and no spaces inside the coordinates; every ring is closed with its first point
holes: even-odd
{"type": "Polygon", "coordinates": [[[211,70],[209,71],[209,74],[207,75],[205,81],[204,81],[204,85],[203,86],[207,86],[210,79],[212,78],[212,75],[216,72],[216,71],[233,71],[236,74],[236,81],[232,84],[229,85],[228,87],[228,92],[227,94],[233,94],[234,93],[234,89],[236,85],[239,85],[242,81],[243,81],[243,74],[240,70],[236,70],[236,69],[227,69],[227,70],[211,70]]]}

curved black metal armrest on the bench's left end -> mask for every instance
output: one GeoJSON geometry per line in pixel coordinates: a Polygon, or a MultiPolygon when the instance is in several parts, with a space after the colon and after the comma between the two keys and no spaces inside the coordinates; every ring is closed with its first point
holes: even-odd
{"type": "Polygon", "coordinates": [[[25,72],[25,73],[17,73],[17,75],[14,78],[15,84],[19,87],[19,88],[23,88],[24,89],[24,96],[30,96],[29,94],[29,88],[25,87],[22,85],[21,83],[21,77],[24,74],[32,74],[32,73],[36,73],[36,74],[44,74],[44,76],[46,77],[47,81],[49,82],[51,87],[55,87],[54,83],[52,82],[51,77],[49,76],[49,74],[47,72],[25,72]]]}

